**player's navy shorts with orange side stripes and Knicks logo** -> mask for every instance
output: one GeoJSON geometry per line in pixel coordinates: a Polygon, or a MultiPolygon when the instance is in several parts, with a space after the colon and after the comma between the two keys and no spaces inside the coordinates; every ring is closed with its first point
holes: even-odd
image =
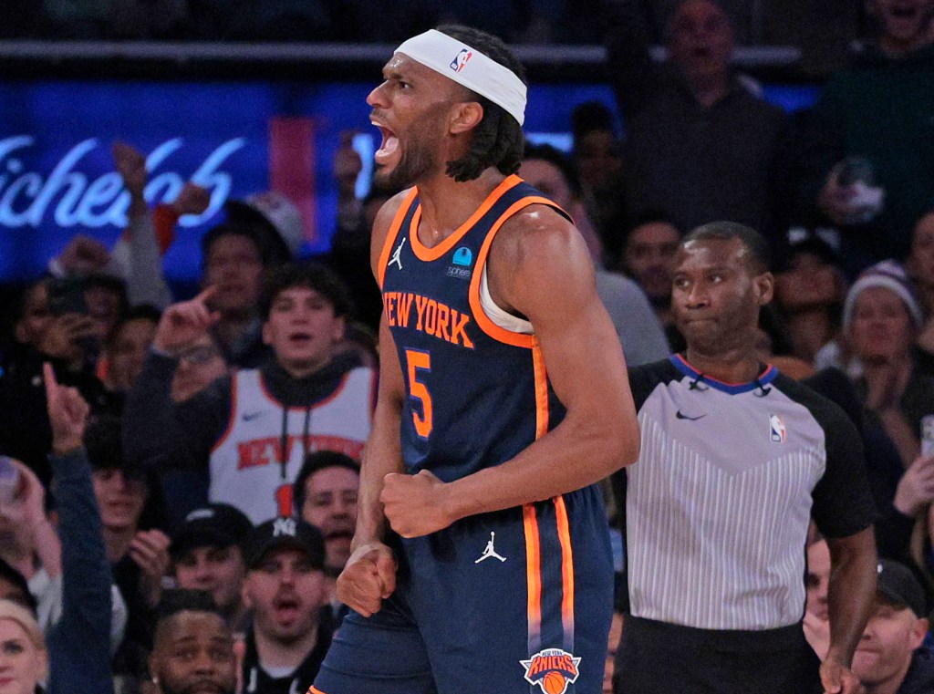
{"type": "Polygon", "coordinates": [[[344,619],[311,692],[601,692],[613,560],[597,487],[401,542],[396,592],[344,619]]]}

